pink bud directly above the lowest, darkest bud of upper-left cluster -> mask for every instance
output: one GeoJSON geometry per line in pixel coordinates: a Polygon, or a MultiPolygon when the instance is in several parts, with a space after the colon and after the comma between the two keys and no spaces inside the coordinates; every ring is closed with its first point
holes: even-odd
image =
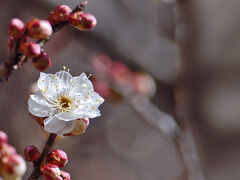
{"type": "Polygon", "coordinates": [[[24,44],[23,53],[30,58],[35,58],[41,54],[41,46],[34,42],[27,42],[24,44]]]}

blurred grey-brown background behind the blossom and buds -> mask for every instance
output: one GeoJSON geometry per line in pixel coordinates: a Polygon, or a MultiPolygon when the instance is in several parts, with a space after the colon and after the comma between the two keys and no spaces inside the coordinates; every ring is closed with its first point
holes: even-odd
{"type": "MultiPolygon", "coordinates": [[[[25,23],[47,19],[57,5],[74,8],[80,1],[0,3],[0,59],[4,61],[12,18],[25,23]]],[[[104,57],[122,62],[132,72],[147,73],[150,84],[141,85],[151,87],[151,93],[141,97],[157,107],[161,121],[175,117],[193,135],[206,179],[237,180],[239,8],[238,0],[89,0],[85,12],[96,16],[96,28],[82,32],[66,27],[54,34],[45,47],[52,59],[47,72],[67,66],[74,76],[86,72],[97,79],[92,63],[104,57]]],[[[0,84],[0,130],[8,133],[9,143],[20,154],[27,145],[41,149],[47,138],[27,110],[29,91],[38,77],[28,62],[12,74],[10,83],[0,84]]],[[[146,106],[134,107],[134,93],[125,92],[125,86],[113,89],[100,107],[102,116],[90,120],[84,135],[56,142],[55,147],[69,157],[63,170],[73,180],[186,180],[185,162],[176,144],[165,136],[156,118],[144,116],[157,110],[145,113],[146,106]]],[[[23,179],[31,168],[28,163],[23,179]]]]}

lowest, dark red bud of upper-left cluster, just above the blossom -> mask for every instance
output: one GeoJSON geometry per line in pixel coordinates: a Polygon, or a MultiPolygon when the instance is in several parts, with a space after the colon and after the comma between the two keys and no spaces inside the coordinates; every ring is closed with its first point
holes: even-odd
{"type": "Polygon", "coordinates": [[[48,67],[51,66],[51,59],[45,52],[42,52],[40,56],[34,58],[32,62],[34,67],[39,71],[45,71],[48,67]]]}

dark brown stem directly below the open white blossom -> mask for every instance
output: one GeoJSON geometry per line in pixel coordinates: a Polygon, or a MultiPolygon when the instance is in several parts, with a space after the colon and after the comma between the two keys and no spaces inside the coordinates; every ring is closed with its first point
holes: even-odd
{"type": "Polygon", "coordinates": [[[56,137],[57,137],[57,135],[53,134],[53,133],[51,133],[49,135],[47,143],[43,148],[42,155],[39,158],[39,160],[34,164],[34,169],[32,171],[32,174],[28,178],[28,180],[36,180],[36,179],[38,179],[39,176],[41,176],[41,171],[40,171],[41,163],[45,160],[48,152],[50,151],[50,149],[51,149],[51,147],[54,143],[54,140],[56,139],[56,137]]]}

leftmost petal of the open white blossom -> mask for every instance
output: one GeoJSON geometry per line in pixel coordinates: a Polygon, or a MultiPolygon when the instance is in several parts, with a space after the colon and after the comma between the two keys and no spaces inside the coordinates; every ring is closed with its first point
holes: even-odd
{"type": "Polygon", "coordinates": [[[37,117],[47,117],[51,112],[51,104],[49,104],[42,96],[41,92],[37,91],[35,95],[30,95],[28,100],[29,112],[37,117]]]}

